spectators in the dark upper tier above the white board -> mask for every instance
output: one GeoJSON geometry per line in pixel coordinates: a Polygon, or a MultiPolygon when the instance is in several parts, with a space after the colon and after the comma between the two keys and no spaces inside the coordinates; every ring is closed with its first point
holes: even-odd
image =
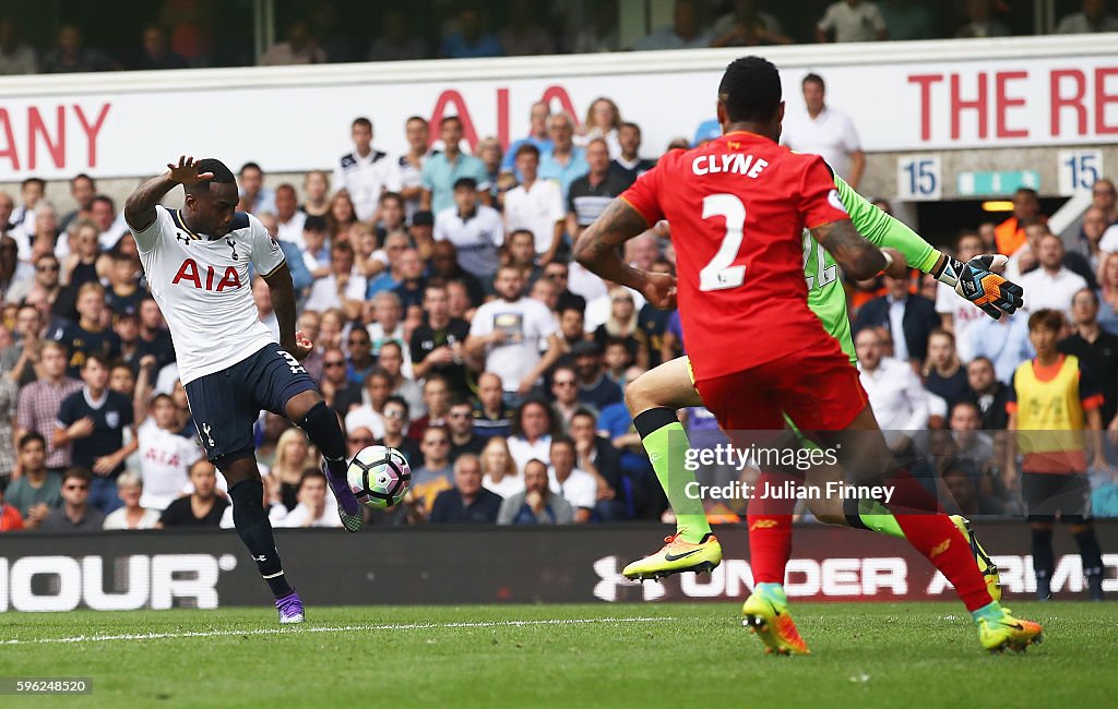
{"type": "MultiPolygon", "coordinates": [[[[58,28],[51,46],[36,47],[15,17],[0,18],[0,75],[178,69],[220,64],[215,57],[215,27],[205,11],[183,12],[169,2],[134,42],[93,47],[76,25],[58,28]]],[[[206,7],[207,3],[198,3],[206,7]]],[[[449,3],[448,3],[449,6],[449,3]]],[[[280,28],[280,39],[257,57],[259,65],[475,58],[557,52],[755,47],[799,42],[850,42],[1006,37],[1020,13],[1002,0],[941,3],[916,0],[836,0],[819,3],[822,15],[811,31],[796,36],[777,16],[788,8],[776,0],[676,0],[672,21],[634,41],[623,42],[616,0],[546,3],[508,0],[500,9],[481,3],[440,7],[435,22],[402,6],[388,3],[363,39],[330,2],[315,3],[305,17],[280,28]],[[493,16],[499,20],[493,20],[493,16]]],[[[1032,9],[1030,7],[1029,16],[1032,9]]],[[[1082,0],[1078,12],[1059,19],[1057,33],[1118,31],[1118,18],[1106,0],[1082,0]]],[[[94,42],[95,44],[95,42],[94,42]]],[[[248,60],[244,57],[238,60],[248,60]]]]}

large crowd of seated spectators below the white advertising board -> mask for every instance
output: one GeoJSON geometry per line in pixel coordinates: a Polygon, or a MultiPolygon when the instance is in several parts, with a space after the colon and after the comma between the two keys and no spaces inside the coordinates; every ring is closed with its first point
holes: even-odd
{"type": "MultiPolygon", "coordinates": [[[[804,121],[825,111],[822,89],[822,78],[805,79],[805,95],[817,96],[804,121]]],[[[304,365],[342,416],[349,452],[380,443],[411,466],[408,498],[370,511],[373,526],[665,514],[623,392],[685,352],[679,314],[569,258],[572,240],[655,160],[608,98],[580,127],[544,104],[528,125],[509,154],[485,140],[474,155],[456,117],[428,126],[414,116],[397,128],[409,151],[388,155],[372,121],[359,117],[352,151],[332,171],[272,186],[259,164],[239,167],[240,208],[285,253],[297,326],[316,344],[304,365]]],[[[836,135],[836,150],[856,145],[836,135]]],[[[116,204],[76,175],[73,204],[59,213],[44,186],[28,179],[19,194],[0,193],[3,524],[17,525],[15,515],[42,529],[230,525],[116,204]]],[[[899,451],[930,461],[964,511],[977,500],[989,504],[983,511],[1020,509],[998,432],[1011,421],[1014,371],[1034,356],[1030,312],[1060,314],[1061,351],[1081,360],[1102,394],[1102,428],[1118,432],[1116,203],[1114,183],[1100,180],[1070,249],[1049,232],[1031,190],[1017,192],[1003,223],[958,236],[963,260],[1011,257],[1011,276],[1025,286],[1025,312],[1014,317],[991,319],[929,276],[846,284],[879,421],[897,432],[899,451]]],[[[669,224],[655,224],[626,243],[625,258],[674,272],[669,236],[669,224]]],[[[262,279],[252,293],[278,335],[262,279]]],[[[709,412],[681,420],[697,444],[717,440],[709,412]]],[[[267,414],[256,437],[273,523],[338,526],[303,432],[267,414]]],[[[741,510],[711,511],[733,519],[741,510]]]]}

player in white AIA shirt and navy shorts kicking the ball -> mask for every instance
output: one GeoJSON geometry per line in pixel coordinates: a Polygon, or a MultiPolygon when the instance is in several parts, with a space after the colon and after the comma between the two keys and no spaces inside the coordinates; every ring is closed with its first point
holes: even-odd
{"type": "Polygon", "coordinates": [[[295,289],[280,245],[252,214],[237,210],[237,182],[218,160],[180,156],[124,203],[151,293],[174,342],[179,375],[209,460],[225,475],[233,520],[276,597],[281,623],[303,622],[303,603],[284,577],[263,505],[253,423],[260,409],[306,431],[343,526],[361,528],[361,508],[345,480],[345,437],[300,362],[312,343],[295,330],[295,289]],[[159,204],[176,185],[182,209],[159,204]],[[272,293],[280,342],[260,323],[249,265],[272,293]]]}

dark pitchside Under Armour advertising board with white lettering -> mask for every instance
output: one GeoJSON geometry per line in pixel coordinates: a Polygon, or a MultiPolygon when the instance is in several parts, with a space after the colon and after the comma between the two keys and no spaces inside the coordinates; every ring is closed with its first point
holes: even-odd
{"type": "MultiPolygon", "coordinates": [[[[1023,524],[978,527],[996,549],[1006,595],[1033,592],[1023,524]]],[[[465,604],[740,601],[752,585],[746,531],[719,527],[727,556],[711,575],[664,583],[622,578],[659,528],[385,529],[360,535],[278,530],[286,571],[307,603],[465,604]],[[389,538],[390,537],[390,538],[389,538]],[[329,549],[329,554],[323,550],[329,549]]],[[[1058,597],[1081,597],[1082,567],[1057,536],[1058,597]]],[[[1118,524],[1100,523],[1103,548],[1118,524]]],[[[1103,588],[1118,597],[1118,554],[1103,556],[1103,588]]],[[[951,600],[942,576],[903,543],[846,529],[796,529],[785,588],[804,601],[951,600]]],[[[267,602],[231,530],[0,536],[0,611],[215,609],[267,602]]]]}

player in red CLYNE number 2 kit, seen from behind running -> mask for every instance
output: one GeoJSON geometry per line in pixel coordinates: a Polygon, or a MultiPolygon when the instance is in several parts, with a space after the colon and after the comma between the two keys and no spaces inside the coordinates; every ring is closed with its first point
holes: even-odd
{"type": "MultiPolygon", "coordinates": [[[[758,57],[732,63],[719,86],[718,117],[721,138],[669,153],[609,204],[576,245],[579,262],[659,307],[678,296],[694,387],[731,440],[781,435],[787,414],[836,451],[860,482],[890,485],[889,506],[907,539],[954,584],[982,644],[1023,650],[1039,640],[1040,625],[1014,619],[991,597],[966,539],[896,463],[858,371],[807,307],[805,229],[853,279],[872,277],[892,259],[854,229],[823,160],[778,145],[784,103],[776,67],[758,57]],[[662,219],[672,226],[678,282],[618,256],[618,246],[662,219]]],[[[634,423],[647,438],[676,421],[673,409],[662,408],[634,423]]],[[[669,538],[662,552],[674,561],[703,558],[708,549],[717,549],[713,566],[721,554],[712,535],[699,544],[669,538]]],[[[784,619],[776,609],[761,621],[784,619]]]]}

